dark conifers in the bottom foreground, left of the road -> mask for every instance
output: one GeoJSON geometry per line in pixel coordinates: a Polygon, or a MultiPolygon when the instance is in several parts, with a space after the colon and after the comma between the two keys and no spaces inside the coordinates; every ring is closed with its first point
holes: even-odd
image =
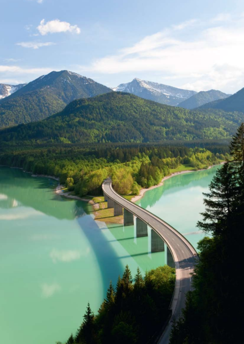
{"type": "Polygon", "coordinates": [[[66,344],[149,343],[170,316],[174,284],[175,269],[167,265],[146,272],[144,278],[137,268],[134,279],[127,265],[116,287],[110,283],[98,314],[88,304],[80,328],[66,344]]]}

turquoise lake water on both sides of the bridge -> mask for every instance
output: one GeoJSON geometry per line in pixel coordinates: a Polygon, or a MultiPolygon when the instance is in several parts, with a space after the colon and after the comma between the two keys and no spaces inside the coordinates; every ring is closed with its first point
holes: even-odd
{"type": "MultiPolygon", "coordinates": [[[[138,204],[185,233],[195,228],[217,167],[175,176],[138,204]]],[[[133,272],[164,264],[150,252],[150,235],[87,215],[87,204],[55,195],[56,181],[0,167],[0,343],[64,342],[80,326],[87,302],[96,312],[109,281],[128,264],[133,272]]],[[[150,230],[149,230],[150,234],[150,230]]]]}

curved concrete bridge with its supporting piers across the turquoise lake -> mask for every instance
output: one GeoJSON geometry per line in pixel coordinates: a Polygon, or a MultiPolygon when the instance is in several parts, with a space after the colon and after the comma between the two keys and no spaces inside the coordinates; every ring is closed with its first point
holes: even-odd
{"type": "Polygon", "coordinates": [[[191,290],[191,273],[193,272],[195,260],[198,258],[197,253],[190,242],[176,229],[148,210],[117,194],[112,188],[110,178],[103,182],[102,189],[108,201],[108,208],[114,208],[114,216],[122,215],[124,208],[124,225],[132,225],[133,215],[136,216],[137,236],[147,235],[147,225],[153,229],[152,252],[164,251],[163,242],[167,245],[167,264],[175,267],[176,282],[169,307],[171,317],[158,343],[168,344],[172,322],[179,317],[182,308],[185,306],[186,292],[191,290]]]}

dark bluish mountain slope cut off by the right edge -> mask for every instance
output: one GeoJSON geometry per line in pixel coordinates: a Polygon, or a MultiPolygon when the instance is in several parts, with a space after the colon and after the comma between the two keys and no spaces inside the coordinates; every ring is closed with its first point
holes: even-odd
{"type": "Polygon", "coordinates": [[[201,108],[221,109],[228,112],[240,111],[244,113],[244,88],[226,99],[205,104],[201,108]]]}

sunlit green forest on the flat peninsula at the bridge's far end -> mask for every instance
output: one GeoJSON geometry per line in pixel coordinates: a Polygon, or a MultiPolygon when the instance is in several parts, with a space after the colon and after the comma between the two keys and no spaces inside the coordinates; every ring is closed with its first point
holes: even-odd
{"type": "Polygon", "coordinates": [[[78,196],[101,195],[102,182],[109,175],[120,194],[136,195],[141,187],[157,185],[171,169],[182,164],[192,170],[206,169],[228,158],[228,152],[224,144],[208,149],[183,144],[36,145],[5,147],[0,164],[59,177],[60,183],[78,196]]]}

